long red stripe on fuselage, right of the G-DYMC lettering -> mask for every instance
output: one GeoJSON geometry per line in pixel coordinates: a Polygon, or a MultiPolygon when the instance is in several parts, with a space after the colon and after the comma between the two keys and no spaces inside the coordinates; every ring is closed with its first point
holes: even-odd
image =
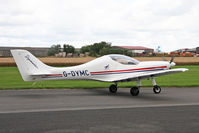
{"type": "Polygon", "coordinates": [[[96,74],[96,73],[112,73],[112,72],[126,72],[126,71],[138,71],[138,70],[149,70],[149,69],[157,69],[157,68],[167,68],[167,66],[138,68],[138,69],[127,69],[127,70],[116,70],[116,71],[100,71],[100,72],[91,72],[91,74],[96,74]]]}

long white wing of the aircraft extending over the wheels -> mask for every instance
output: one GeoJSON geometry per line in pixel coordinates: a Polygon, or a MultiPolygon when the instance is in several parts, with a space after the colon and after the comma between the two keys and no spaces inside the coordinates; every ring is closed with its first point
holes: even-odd
{"type": "Polygon", "coordinates": [[[106,82],[126,82],[126,81],[136,81],[138,78],[139,79],[145,79],[145,78],[150,78],[150,77],[157,77],[157,76],[162,76],[162,75],[167,75],[167,74],[173,74],[173,73],[179,73],[179,72],[185,72],[188,69],[186,68],[176,68],[176,69],[169,69],[169,70],[160,70],[160,71],[155,71],[155,72],[147,72],[147,73],[138,73],[137,75],[128,73],[128,74],[123,74],[120,76],[113,76],[110,79],[104,79],[106,82]]]}

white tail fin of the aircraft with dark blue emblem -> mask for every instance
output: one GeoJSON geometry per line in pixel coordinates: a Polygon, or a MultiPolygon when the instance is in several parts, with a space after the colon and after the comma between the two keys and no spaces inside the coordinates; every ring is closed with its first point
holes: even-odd
{"type": "Polygon", "coordinates": [[[24,81],[33,81],[32,76],[38,73],[47,73],[51,68],[45,65],[27,50],[11,50],[19,72],[24,81]]]}

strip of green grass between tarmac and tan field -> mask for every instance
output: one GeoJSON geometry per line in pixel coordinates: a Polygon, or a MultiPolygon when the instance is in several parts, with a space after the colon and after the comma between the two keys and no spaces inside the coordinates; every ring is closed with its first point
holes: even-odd
{"type": "MultiPolygon", "coordinates": [[[[156,78],[160,86],[194,87],[199,86],[199,66],[176,66],[189,71],[156,78]]],[[[31,88],[107,88],[111,83],[82,80],[24,82],[16,67],[0,67],[0,89],[31,88]]],[[[119,87],[132,87],[135,82],[119,83],[119,87]]],[[[152,86],[151,80],[143,80],[142,86],[152,86]]]]}

